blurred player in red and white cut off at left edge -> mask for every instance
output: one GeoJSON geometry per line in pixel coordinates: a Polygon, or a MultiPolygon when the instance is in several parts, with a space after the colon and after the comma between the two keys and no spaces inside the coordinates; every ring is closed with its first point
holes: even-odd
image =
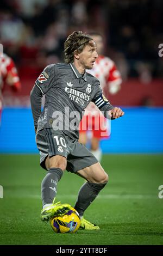
{"type": "Polygon", "coordinates": [[[11,86],[15,92],[21,89],[20,78],[18,77],[15,63],[7,54],[3,53],[2,57],[0,57],[0,124],[3,106],[2,93],[5,84],[11,86]]]}

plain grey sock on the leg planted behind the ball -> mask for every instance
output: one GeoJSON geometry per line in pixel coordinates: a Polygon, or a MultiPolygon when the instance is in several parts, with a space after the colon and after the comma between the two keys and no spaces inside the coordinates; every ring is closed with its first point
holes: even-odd
{"type": "Polygon", "coordinates": [[[104,184],[96,184],[91,182],[86,182],[79,190],[78,199],[74,209],[79,212],[80,216],[83,216],[84,211],[87,207],[95,200],[98,193],[104,188],[104,184]]]}

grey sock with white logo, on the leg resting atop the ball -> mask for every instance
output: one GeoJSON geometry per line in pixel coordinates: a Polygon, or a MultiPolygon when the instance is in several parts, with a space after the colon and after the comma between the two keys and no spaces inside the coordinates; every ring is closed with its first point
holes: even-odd
{"type": "Polygon", "coordinates": [[[42,205],[52,204],[57,194],[57,183],[63,172],[60,168],[50,168],[41,183],[42,205]]]}

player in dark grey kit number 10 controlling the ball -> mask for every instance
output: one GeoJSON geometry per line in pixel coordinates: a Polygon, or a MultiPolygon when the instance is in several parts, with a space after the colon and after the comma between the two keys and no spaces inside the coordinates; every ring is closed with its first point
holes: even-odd
{"type": "Polygon", "coordinates": [[[41,220],[49,221],[70,209],[70,204],[54,203],[57,184],[66,169],[87,181],[79,190],[74,208],[80,215],[80,228],[96,230],[98,225],[85,220],[83,215],[107,184],[108,174],[78,142],[78,126],[90,101],[97,105],[102,100],[99,108],[108,118],[119,118],[124,112],[104,99],[97,78],[85,71],[92,69],[98,57],[92,38],[83,32],[73,32],[65,41],[64,51],[65,63],[48,65],[30,94],[40,165],[47,170],[41,184],[41,220]],[[45,106],[41,112],[43,94],[45,106]]]}

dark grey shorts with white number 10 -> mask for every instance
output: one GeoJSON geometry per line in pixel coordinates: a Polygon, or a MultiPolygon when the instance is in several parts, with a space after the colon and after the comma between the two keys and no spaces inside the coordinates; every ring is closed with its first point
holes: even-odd
{"type": "Polygon", "coordinates": [[[36,133],[36,144],[40,151],[40,165],[45,167],[47,156],[64,156],[67,159],[66,170],[77,172],[98,162],[95,156],[77,139],[72,139],[62,131],[43,129],[36,133]]]}

